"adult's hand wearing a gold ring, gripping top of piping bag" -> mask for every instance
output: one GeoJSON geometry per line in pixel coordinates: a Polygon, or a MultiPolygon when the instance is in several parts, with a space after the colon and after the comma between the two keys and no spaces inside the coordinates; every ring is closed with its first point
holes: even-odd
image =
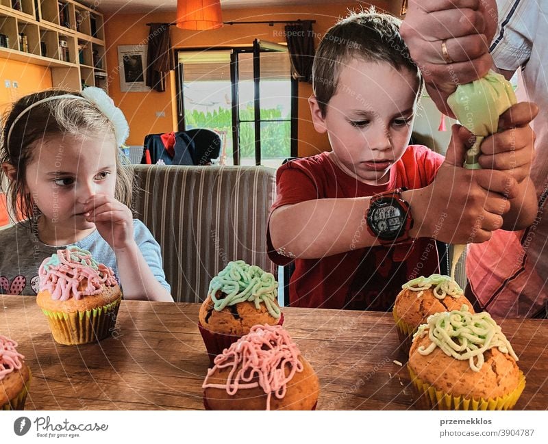
{"type": "Polygon", "coordinates": [[[455,117],[447,97],[493,66],[489,44],[497,29],[495,0],[409,0],[400,33],[438,109],[455,117]],[[444,54],[445,47],[445,54],[444,54]]]}

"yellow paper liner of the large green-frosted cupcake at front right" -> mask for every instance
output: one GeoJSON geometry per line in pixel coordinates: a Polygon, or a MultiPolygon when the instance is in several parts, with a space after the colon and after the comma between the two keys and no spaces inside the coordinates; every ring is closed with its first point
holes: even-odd
{"type": "Polygon", "coordinates": [[[520,371],[518,386],[508,395],[487,399],[483,397],[476,399],[462,395],[453,396],[421,380],[409,365],[407,368],[413,387],[419,395],[419,404],[429,410],[436,408],[438,410],[511,410],[516,405],[523,389],[525,389],[525,376],[523,371],[520,371]]]}

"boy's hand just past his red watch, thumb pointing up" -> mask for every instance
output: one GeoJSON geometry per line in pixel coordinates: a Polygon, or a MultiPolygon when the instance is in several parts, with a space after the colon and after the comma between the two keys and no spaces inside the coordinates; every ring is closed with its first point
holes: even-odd
{"type": "Polygon", "coordinates": [[[451,143],[434,182],[406,192],[414,220],[410,235],[449,244],[484,242],[501,228],[502,215],[510,210],[507,198],[516,194],[517,182],[508,172],[462,168],[471,146],[470,133],[460,125],[453,125],[451,131],[451,143]]]}

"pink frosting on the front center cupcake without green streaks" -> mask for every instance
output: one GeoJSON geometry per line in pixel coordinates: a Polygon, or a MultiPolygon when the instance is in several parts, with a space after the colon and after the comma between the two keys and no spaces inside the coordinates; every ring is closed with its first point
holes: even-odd
{"type": "Polygon", "coordinates": [[[288,382],[297,371],[303,371],[303,364],[298,359],[300,354],[297,344],[282,326],[253,326],[247,335],[216,356],[202,388],[226,389],[229,395],[234,395],[238,389],[261,387],[266,393],[266,410],[270,410],[272,393],[277,399],[282,399],[288,382]],[[288,376],[286,366],[289,368],[288,376]],[[216,369],[225,367],[232,367],[226,384],[208,382],[216,369]],[[253,379],[258,381],[251,382],[253,379]]]}

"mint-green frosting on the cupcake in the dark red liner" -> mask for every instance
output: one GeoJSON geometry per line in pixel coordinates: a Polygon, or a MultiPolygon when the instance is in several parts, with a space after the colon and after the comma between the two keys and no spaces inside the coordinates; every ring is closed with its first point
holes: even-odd
{"type": "Polygon", "coordinates": [[[260,309],[262,302],[272,317],[278,319],[282,312],[275,304],[277,288],[278,283],[272,273],[264,272],[257,265],[234,261],[212,278],[209,293],[216,311],[245,301],[255,302],[256,308],[260,309]],[[216,298],[219,290],[226,295],[225,298],[216,298]]]}

